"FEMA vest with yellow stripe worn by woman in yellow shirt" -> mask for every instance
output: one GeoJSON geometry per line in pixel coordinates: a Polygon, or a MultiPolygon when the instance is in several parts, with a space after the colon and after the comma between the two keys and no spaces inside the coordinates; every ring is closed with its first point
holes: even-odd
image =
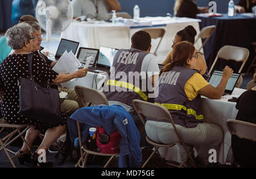
{"type": "Polygon", "coordinates": [[[189,101],[184,90],[186,82],[197,72],[183,66],[174,66],[171,71],[163,72],[159,77],[159,93],[155,103],[166,107],[174,123],[184,127],[196,127],[204,118],[200,109],[201,95],[189,101]]]}

